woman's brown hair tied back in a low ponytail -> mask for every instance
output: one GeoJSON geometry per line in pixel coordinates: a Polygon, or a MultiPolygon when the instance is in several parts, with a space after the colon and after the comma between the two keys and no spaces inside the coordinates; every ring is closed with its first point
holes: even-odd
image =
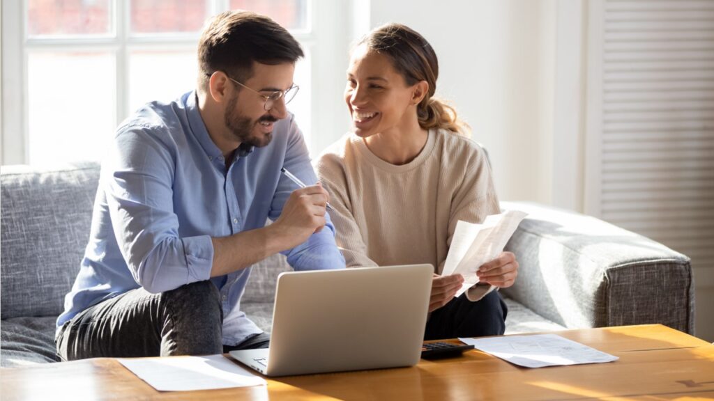
{"type": "Polygon", "coordinates": [[[436,53],[426,39],[413,29],[402,24],[386,24],[364,36],[357,44],[388,56],[394,69],[411,86],[419,81],[429,85],[428,93],[417,105],[419,126],[424,129],[445,128],[453,133],[468,134],[468,125],[459,120],[456,110],[434,98],[439,63],[436,53]]]}

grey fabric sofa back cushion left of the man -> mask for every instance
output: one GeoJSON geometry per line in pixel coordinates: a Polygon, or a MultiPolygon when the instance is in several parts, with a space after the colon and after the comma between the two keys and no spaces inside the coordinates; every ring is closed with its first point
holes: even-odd
{"type": "Polygon", "coordinates": [[[99,165],[3,166],[1,318],[59,315],[89,239],[99,165]]]}

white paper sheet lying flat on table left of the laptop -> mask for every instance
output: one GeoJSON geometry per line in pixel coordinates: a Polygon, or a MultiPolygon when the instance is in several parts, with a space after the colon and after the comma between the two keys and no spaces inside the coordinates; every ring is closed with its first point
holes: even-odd
{"type": "Polygon", "coordinates": [[[266,385],[223,355],[119,359],[121,365],[159,391],[211,390],[266,385]]]}

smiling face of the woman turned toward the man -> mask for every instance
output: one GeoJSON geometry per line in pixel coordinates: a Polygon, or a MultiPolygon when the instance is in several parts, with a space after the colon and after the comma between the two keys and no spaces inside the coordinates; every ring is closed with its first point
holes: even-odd
{"type": "Polygon", "coordinates": [[[347,69],[345,101],[354,131],[366,138],[408,128],[416,122],[414,86],[392,66],[388,56],[358,46],[347,69]]]}

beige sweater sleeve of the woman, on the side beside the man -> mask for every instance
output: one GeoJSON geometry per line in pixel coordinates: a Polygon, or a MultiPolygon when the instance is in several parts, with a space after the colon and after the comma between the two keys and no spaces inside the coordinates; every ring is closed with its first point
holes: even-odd
{"type": "Polygon", "coordinates": [[[348,174],[343,163],[336,156],[326,153],[318,159],[316,165],[318,178],[323,188],[330,194],[329,210],[332,223],[336,230],[338,249],[345,257],[348,268],[364,268],[377,266],[367,256],[367,246],[353,214],[353,203],[348,190],[348,174]]]}

